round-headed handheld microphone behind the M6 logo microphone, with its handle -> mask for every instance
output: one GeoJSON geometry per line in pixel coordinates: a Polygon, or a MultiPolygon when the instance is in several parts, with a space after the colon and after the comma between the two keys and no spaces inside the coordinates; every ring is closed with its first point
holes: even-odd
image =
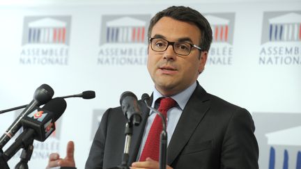
{"type": "Polygon", "coordinates": [[[52,96],[54,95],[54,90],[48,86],[47,84],[43,84],[40,87],[36,89],[36,91],[33,94],[33,100],[26,106],[24,111],[20,113],[20,115],[17,117],[17,119],[13,122],[13,124],[8,127],[6,130],[6,133],[4,133],[0,138],[0,149],[8,143],[8,140],[12,138],[17,131],[21,127],[21,120],[22,118],[27,115],[29,112],[33,111],[33,109],[36,109],[37,106],[40,106],[42,104],[45,104],[49,102],[50,99],[52,99],[52,96]]]}

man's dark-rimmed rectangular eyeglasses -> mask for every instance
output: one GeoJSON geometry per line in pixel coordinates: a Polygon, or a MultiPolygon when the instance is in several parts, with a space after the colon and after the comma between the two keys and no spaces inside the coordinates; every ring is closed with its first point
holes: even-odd
{"type": "Polygon", "coordinates": [[[164,40],[162,38],[149,38],[149,42],[153,51],[166,51],[167,47],[169,47],[169,45],[172,45],[173,51],[176,54],[182,56],[189,55],[192,47],[195,47],[196,49],[202,51],[201,47],[198,47],[189,42],[169,42],[168,40],[164,40]]]}

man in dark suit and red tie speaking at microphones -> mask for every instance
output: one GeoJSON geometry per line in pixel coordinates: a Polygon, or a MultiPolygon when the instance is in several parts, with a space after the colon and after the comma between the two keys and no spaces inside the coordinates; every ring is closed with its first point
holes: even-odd
{"type": "MultiPolygon", "coordinates": [[[[210,95],[196,81],[212,42],[205,17],[192,8],[172,6],[151,19],[148,38],[147,67],[155,83],[149,104],[160,109],[166,97],[175,103],[167,110],[167,168],[258,169],[258,145],[249,112],[210,95]]],[[[128,165],[132,169],[159,168],[157,153],[149,155],[144,150],[152,140],[148,135],[153,132],[155,113],[143,102],[139,104],[143,120],[133,127],[128,165]]],[[[105,112],[86,168],[121,164],[125,122],[121,107],[105,112]]],[[[65,159],[51,154],[48,167],[75,167],[73,150],[70,142],[65,159]]]]}

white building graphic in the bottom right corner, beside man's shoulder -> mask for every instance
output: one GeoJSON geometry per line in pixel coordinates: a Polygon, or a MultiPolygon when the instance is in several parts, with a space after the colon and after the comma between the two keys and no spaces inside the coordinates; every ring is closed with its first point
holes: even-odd
{"type": "Polygon", "coordinates": [[[275,131],[265,136],[270,145],[269,169],[277,169],[275,166],[283,166],[283,169],[301,168],[301,126],[275,131]],[[289,166],[288,163],[295,166],[289,166]]]}

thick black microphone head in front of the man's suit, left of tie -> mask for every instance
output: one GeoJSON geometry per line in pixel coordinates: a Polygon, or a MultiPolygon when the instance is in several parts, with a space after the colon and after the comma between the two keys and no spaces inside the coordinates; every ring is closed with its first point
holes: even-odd
{"type": "Polygon", "coordinates": [[[128,122],[135,126],[139,126],[142,119],[142,113],[138,104],[137,96],[129,91],[123,92],[123,94],[121,94],[120,104],[128,122]]]}

